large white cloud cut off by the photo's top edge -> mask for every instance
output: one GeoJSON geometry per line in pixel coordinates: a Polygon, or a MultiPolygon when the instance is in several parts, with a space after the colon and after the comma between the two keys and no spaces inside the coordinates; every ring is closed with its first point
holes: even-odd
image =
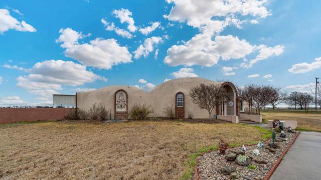
{"type": "Polygon", "coordinates": [[[228,14],[252,15],[264,18],[271,15],[264,5],[267,0],[167,0],[175,5],[165,18],[201,27],[213,21],[213,16],[228,14]]]}

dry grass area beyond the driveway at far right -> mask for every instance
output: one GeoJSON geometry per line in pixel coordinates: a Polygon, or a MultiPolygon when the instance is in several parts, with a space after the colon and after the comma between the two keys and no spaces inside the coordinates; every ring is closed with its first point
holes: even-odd
{"type": "Polygon", "coordinates": [[[261,112],[264,119],[296,120],[300,130],[321,131],[321,113],[305,112],[261,112]]]}

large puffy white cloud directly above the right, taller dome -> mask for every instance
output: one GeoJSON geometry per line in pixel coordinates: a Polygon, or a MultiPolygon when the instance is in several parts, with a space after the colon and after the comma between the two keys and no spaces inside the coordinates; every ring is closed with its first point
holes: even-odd
{"type": "Polygon", "coordinates": [[[221,57],[223,60],[238,59],[253,51],[253,46],[245,39],[232,35],[197,34],[183,45],[173,45],[167,50],[164,62],[176,65],[204,65],[210,67],[221,57]]]}

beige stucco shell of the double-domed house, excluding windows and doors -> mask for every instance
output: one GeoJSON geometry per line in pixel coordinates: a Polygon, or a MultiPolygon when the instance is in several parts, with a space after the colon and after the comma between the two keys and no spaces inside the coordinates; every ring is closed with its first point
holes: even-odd
{"type": "MultiPolygon", "coordinates": [[[[150,92],[145,92],[138,87],[124,85],[107,86],[97,90],[77,92],[77,107],[89,109],[94,103],[103,103],[106,109],[111,112],[111,118],[115,118],[116,92],[123,90],[126,92],[127,96],[127,112],[133,104],[140,103],[150,105],[152,107],[152,116],[165,116],[163,113],[164,107],[169,105],[177,110],[176,95],[178,93],[182,93],[184,95],[184,105],[180,110],[184,110],[184,117],[187,118],[188,113],[191,112],[194,118],[208,118],[207,110],[199,108],[197,104],[192,102],[189,96],[191,88],[199,85],[200,83],[217,84],[222,87],[226,87],[231,97],[229,98],[229,101],[232,100],[234,104],[236,103],[235,98],[237,96],[237,91],[233,83],[215,82],[201,77],[185,77],[163,82],[155,86],[150,92]]],[[[227,112],[227,115],[234,115],[236,112],[235,105],[232,107],[227,106],[224,110],[227,112]]],[[[215,113],[216,109],[213,114],[215,113]]]]}

